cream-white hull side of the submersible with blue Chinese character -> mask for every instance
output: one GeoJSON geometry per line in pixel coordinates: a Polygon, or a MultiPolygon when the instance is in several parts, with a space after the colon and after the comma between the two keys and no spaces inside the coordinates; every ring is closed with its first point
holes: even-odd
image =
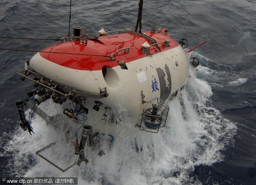
{"type": "MultiPolygon", "coordinates": [[[[67,68],[44,59],[39,53],[32,57],[29,65],[41,75],[84,93],[96,94],[99,89],[106,88],[108,97],[100,99],[103,105],[99,111],[92,109],[94,100],[98,101],[96,98],[88,97],[85,105],[89,108],[87,124],[103,132],[106,130],[106,118],[103,116],[105,107],[113,110],[125,108],[122,111],[128,114],[131,124],[135,125],[140,122],[146,105],[142,101],[141,92],[145,95],[146,102],[156,97],[167,102],[172,94],[177,95],[186,85],[189,76],[188,54],[180,46],[128,62],[128,70],[120,68],[119,65],[106,68],[105,77],[102,70],[67,68]]],[[[63,110],[73,108],[70,102],[68,100],[62,105],[63,110]]],[[[114,127],[109,132],[113,131],[114,127]]]]}

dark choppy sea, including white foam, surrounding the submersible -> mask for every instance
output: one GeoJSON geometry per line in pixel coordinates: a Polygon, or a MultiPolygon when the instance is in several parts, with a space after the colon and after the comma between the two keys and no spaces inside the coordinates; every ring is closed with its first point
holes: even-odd
{"type": "MultiPolygon", "coordinates": [[[[71,26],[86,26],[89,37],[101,28],[134,29],[138,3],[73,0],[71,26]]],[[[69,0],[0,0],[0,37],[61,38],[68,33],[69,6],[69,0]]],[[[153,22],[175,40],[186,38],[189,48],[210,39],[192,52],[200,65],[190,68],[182,96],[169,102],[166,127],[137,138],[152,140],[154,157],[116,141],[88,165],[65,173],[49,165],[35,151],[64,132],[34,114],[30,136],[18,125],[15,105],[32,90],[16,71],[35,53],[1,50],[0,177],[73,176],[79,185],[256,184],[256,0],[144,0],[142,29],[153,22]]],[[[0,39],[0,48],[41,50],[55,43],[0,39]]]]}

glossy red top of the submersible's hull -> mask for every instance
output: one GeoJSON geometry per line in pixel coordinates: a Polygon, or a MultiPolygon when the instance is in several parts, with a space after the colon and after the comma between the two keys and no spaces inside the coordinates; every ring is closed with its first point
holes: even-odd
{"type": "MultiPolygon", "coordinates": [[[[161,30],[161,33],[153,33],[149,31],[143,32],[147,36],[154,39],[157,43],[164,42],[165,40],[171,41],[169,43],[169,47],[167,48],[163,46],[163,44],[158,44],[160,50],[158,50],[156,46],[151,46],[148,54],[154,54],[178,46],[178,43],[173,40],[169,34],[164,35],[163,31],[164,29],[161,30]]],[[[118,65],[117,61],[119,60],[123,60],[125,63],[127,63],[146,57],[146,54],[143,54],[142,52],[142,44],[145,43],[145,41],[148,41],[147,38],[141,36],[140,34],[136,35],[133,33],[122,33],[89,39],[87,41],[87,45],[78,40],[59,43],[42,50],[48,52],[61,52],[70,54],[40,52],[40,55],[46,60],[67,68],[96,71],[102,70],[104,66],[113,68],[118,65]],[[125,53],[124,50],[119,51],[118,56],[116,56],[116,60],[114,61],[111,61],[109,57],[79,55],[90,54],[110,56],[111,54],[116,54],[116,50],[122,48],[130,48],[129,53],[125,53]]],[[[152,43],[148,42],[148,44],[150,45],[152,43]]]]}

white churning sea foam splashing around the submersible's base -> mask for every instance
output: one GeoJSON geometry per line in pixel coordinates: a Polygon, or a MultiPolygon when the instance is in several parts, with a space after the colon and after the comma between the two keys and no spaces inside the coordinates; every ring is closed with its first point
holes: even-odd
{"type": "Polygon", "coordinates": [[[169,102],[166,127],[161,128],[158,134],[125,126],[126,121],[122,119],[116,126],[120,130],[127,130],[115,136],[111,150],[108,150],[109,139],[106,137],[102,144],[105,155],[99,157],[99,151],[88,149],[87,165],[81,163],[80,167],[75,165],[62,173],[38,157],[35,151],[58,140],[66,144],[55,145],[58,151],[55,157],[63,159],[64,163],[73,162],[76,156],[66,154],[74,152],[74,132],[69,132],[69,126],[63,123],[57,123],[57,131],[56,126],[47,126],[41,117],[35,115],[32,120],[35,135],[31,137],[27,132],[17,129],[12,140],[4,147],[5,151],[13,153],[9,168],[18,176],[74,176],[79,178],[79,185],[200,184],[193,182],[189,174],[196,165],[211,165],[223,158],[220,151],[225,145],[233,143],[236,126],[209,106],[211,87],[195,74],[196,70],[191,68],[182,96],[169,102]],[[134,149],[134,138],[139,152],[134,149]]]}

